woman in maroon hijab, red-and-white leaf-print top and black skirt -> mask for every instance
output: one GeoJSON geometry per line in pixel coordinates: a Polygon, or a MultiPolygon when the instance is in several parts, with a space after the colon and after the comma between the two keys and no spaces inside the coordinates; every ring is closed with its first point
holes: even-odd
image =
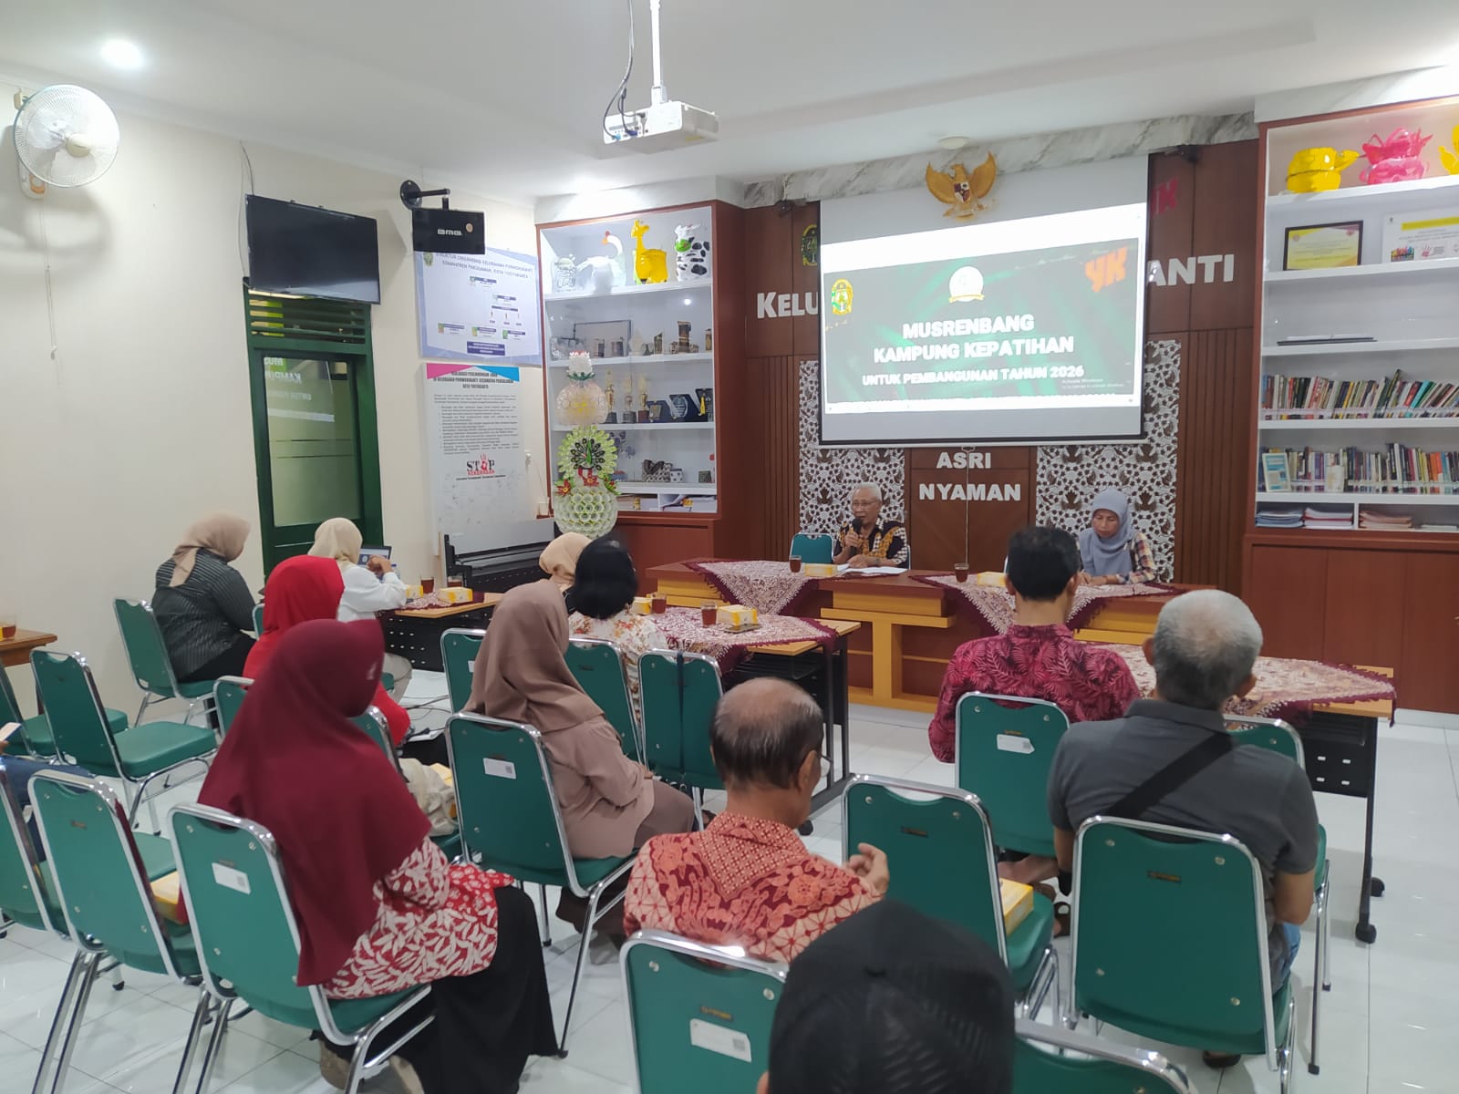
{"type": "MultiPolygon", "coordinates": [[[[384,653],[372,623],[280,636],[198,802],[279,842],[302,928],[298,983],[333,999],[430,985],[435,1023],[401,1049],[409,1063],[391,1060],[407,1090],[516,1090],[528,1055],[557,1052],[535,910],[509,877],[446,862],[400,775],[350,722],[374,702],[384,653]]],[[[344,1052],[321,1052],[338,1087],[344,1052]]]]}

